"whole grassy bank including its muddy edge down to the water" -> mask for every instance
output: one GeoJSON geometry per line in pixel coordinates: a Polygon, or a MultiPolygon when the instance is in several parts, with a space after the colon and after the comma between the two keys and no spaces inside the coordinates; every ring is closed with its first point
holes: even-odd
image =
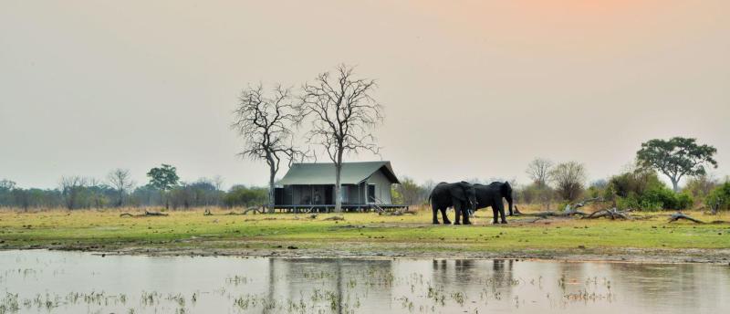
{"type": "MultiPolygon", "coordinates": [[[[638,219],[512,217],[491,225],[431,225],[416,215],[227,215],[203,209],[168,216],[120,217],[124,211],[0,213],[0,248],[98,251],[152,256],[518,258],[568,261],[730,263],[730,225],[667,223],[666,213],[638,219]]],[[[690,213],[706,222],[730,215],[690,213]]],[[[491,213],[490,213],[491,215],[491,213]]]]}

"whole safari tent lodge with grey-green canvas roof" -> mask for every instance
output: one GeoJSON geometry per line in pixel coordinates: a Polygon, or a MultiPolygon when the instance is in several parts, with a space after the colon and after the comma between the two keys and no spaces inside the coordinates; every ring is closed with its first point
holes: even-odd
{"type": "MultiPolygon", "coordinates": [[[[391,162],[343,162],[343,211],[407,208],[392,204],[391,185],[400,183],[391,162]]],[[[274,207],[283,211],[328,212],[335,208],[335,164],[294,163],[276,185],[274,207]]]]}

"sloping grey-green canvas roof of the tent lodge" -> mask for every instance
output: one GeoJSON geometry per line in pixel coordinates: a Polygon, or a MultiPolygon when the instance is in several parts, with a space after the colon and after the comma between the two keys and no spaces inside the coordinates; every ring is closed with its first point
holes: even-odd
{"type": "MultiPolygon", "coordinates": [[[[343,162],[340,184],[358,184],[367,180],[372,173],[383,169],[392,183],[399,183],[393,173],[391,162],[343,162]]],[[[282,185],[334,184],[334,163],[294,163],[279,181],[282,185]]]]}

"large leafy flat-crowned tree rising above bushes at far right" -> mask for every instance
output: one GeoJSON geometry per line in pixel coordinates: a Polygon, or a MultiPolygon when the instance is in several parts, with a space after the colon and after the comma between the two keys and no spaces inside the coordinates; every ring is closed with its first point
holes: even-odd
{"type": "Polygon", "coordinates": [[[713,159],[716,152],[712,146],[698,145],[696,139],[673,137],[668,141],[654,139],[641,143],[636,159],[642,166],[668,176],[674,192],[679,192],[679,182],[684,175],[702,175],[706,165],[717,168],[713,159]]]}

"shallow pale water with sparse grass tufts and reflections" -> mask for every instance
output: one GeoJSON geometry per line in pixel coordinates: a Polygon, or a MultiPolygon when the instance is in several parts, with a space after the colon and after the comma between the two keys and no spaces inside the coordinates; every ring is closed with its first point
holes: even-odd
{"type": "Polygon", "coordinates": [[[1,313],[718,313],[730,267],[0,251],[1,313]]]}

